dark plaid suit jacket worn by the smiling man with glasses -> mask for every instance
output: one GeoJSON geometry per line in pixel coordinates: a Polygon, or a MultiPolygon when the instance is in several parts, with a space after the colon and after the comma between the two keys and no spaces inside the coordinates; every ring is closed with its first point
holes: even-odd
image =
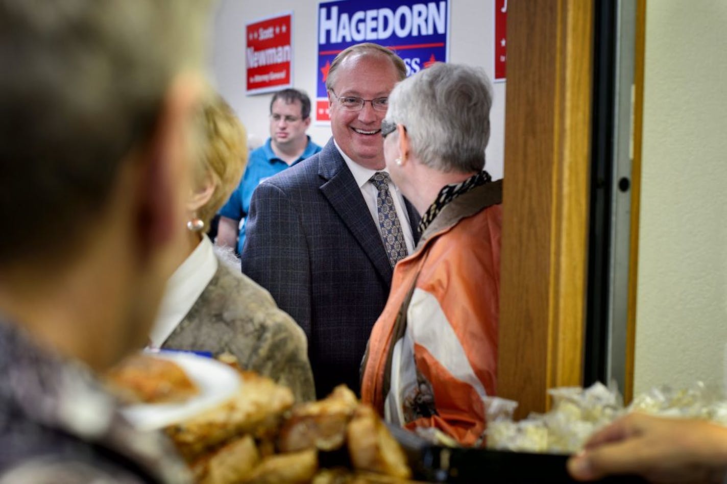
{"type": "MultiPolygon", "coordinates": [[[[419,215],[406,205],[416,239],[419,215]]],[[[257,187],[246,232],[242,271],[308,336],[318,398],[341,383],[358,393],[361,358],[393,270],[333,140],[257,187]]]]}

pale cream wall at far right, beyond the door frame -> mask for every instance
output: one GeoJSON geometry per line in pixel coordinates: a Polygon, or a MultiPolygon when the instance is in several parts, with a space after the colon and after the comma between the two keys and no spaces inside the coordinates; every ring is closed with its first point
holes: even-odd
{"type": "Polygon", "coordinates": [[[636,392],[720,384],[727,344],[727,2],[646,6],[636,392]]]}

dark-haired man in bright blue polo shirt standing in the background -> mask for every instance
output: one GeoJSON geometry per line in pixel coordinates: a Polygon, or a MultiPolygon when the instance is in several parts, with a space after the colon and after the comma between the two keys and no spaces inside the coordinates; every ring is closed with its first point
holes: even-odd
{"type": "Polygon", "coordinates": [[[273,95],[270,101],[270,137],[265,145],[250,153],[240,185],[220,209],[217,245],[236,247],[240,254],[245,242],[245,222],[240,224],[240,221],[247,216],[250,198],[257,185],[321,150],[305,134],[308,126],[310,99],[305,93],[297,89],[283,89],[273,95]]]}

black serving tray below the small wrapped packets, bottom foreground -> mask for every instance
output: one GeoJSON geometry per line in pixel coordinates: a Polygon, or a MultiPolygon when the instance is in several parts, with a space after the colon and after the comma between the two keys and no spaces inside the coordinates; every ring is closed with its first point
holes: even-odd
{"type": "MultiPolygon", "coordinates": [[[[547,453],[489,451],[431,445],[418,435],[390,427],[406,451],[414,479],[432,483],[576,483],[566,470],[569,456],[547,453]]],[[[639,483],[635,476],[614,476],[597,483],[639,483]]]]}

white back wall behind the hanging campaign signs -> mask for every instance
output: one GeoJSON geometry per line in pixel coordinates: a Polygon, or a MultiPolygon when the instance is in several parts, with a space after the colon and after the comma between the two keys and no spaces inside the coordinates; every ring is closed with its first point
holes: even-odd
{"type": "MultiPolygon", "coordinates": [[[[269,136],[268,113],[272,94],[245,95],[245,24],[251,20],[293,12],[293,86],[313,99],[316,94],[317,0],[222,0],[217,9],[213,34],[214,81],[236,110],[249,133],[269,136]]],[[[490,77],[493,40],[494,0],[450,0],[449,61],[480,65],[490,77]]],[[[491,137],[486,151],[486,169],[502,178],[505,128],[505,83],[495,84],[491,111],[491,137]]],[[[308,131],[313,141],[324,145],[331,137],[327,126],[308,131]]]]}

